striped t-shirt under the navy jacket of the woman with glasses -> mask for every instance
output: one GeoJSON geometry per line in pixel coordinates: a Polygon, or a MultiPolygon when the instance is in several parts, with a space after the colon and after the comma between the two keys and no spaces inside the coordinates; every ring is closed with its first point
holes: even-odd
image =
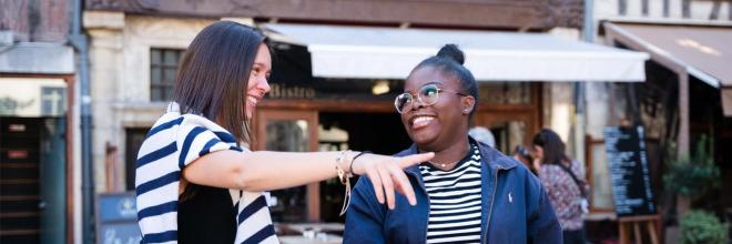
{"type": "Polygon", "coordinates": [[[419,165],[429,195],[427,243],[480,242],[480,150],[468,154],[450,171],[429,163],[419,165]]]}

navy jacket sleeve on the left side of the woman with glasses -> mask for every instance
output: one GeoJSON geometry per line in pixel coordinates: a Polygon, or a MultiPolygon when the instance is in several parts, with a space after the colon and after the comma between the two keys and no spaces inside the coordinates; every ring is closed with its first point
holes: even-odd
{"type": "Polygon", "coordinates": [[[385,214],[386,211],[374,195],[370,181],[362,176],[352,192],[343,243],[386,243],[385,214]]]}

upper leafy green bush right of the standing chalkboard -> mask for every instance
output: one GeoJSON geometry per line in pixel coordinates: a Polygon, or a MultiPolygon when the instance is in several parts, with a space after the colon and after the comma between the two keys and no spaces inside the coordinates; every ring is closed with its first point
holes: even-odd
{"type": "Polygon", "coordinates": [[[667,163],[667,190],[695,199],[720,186],[720,169],[714,165],[713,141],[702,135],[693,156],[679,156],[667,163]]]}

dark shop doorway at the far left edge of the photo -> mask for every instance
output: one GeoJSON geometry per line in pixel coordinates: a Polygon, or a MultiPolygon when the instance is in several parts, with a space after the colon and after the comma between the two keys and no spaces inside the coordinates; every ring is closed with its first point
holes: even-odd
{"type": "Polygon", "coordinates": [[[0,116],[0,243],[64,240],[64,121],[0,116]]]}

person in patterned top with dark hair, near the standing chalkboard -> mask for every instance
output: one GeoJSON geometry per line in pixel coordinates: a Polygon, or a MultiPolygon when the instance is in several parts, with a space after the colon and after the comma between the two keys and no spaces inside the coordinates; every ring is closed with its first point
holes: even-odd
{"type": "Polygon", "coordinates": [[[533,166],[549,193],[565,243],[584,243],[583,200],[588,191],[579,162],[565,153],[561,138],[549,129],[533,136],[533,166]]]}

